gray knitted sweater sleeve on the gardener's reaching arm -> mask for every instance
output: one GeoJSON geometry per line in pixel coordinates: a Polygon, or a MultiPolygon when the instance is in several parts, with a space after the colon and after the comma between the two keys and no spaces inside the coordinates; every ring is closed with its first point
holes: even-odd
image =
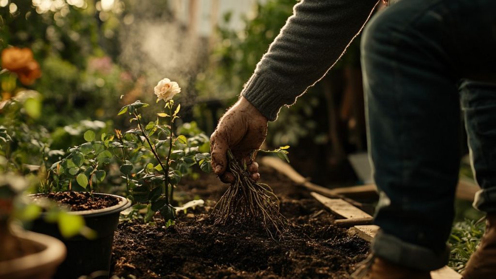
{"type": "Polygon", "coordinates": [[[269,121],[341,57],[377,0],[302,0],[296,4],[242,95],[269,121]]]}

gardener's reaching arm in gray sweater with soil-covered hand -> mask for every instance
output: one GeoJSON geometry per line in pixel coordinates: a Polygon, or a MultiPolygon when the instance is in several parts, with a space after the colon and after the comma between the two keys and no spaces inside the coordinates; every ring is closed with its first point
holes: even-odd
{"type": "Polygon", "coordinates": [[[238,103],[245,109],[230,108],[212,134],[212,168],[221,180],[232,179],[225,175],[227,149],[245,150],[235,154],[238,159],[246,158],[250,148],[257,150],[267,121],[274,121],[283,105],[294,103],[334,65],[376,4],[377,0],[303,0],[295,5],[242,91],[238,103]]]}

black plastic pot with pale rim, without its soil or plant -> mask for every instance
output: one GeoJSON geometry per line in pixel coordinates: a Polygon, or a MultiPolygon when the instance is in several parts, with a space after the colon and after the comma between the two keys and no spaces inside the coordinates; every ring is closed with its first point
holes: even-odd
{"type": "MultiPolygon", "coordinates": [[[[41,194],[33,196],[38,195],[41,194]]],[[[119,222],[119,214],[130,207],[131,203],[116,195],[100,193],[94,195],[113,196],[120,201],[119,204],[105,209],[70,212],[84,217],[86,226],[97,233],[95,239],[90,240],[79,235],[66,239],[60,234],[58,225],[46,222],[44,216],[33,222],[30,230],[54,236],[62,240],[67,247],[67,258],[57,270],[55,279],[77,279],[80,276],[89,276],[93,279],[109,277],[112,242],[119,222]]]]}

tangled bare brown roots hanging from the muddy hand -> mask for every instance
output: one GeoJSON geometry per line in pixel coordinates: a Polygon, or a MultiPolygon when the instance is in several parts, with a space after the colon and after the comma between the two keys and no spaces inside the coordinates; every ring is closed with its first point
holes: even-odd
{"type": "Polygon", "coordinates": [[[262,227],[271,238],[281,239],[286,222],[276,195],[267,184],[252,180],[246,164],[237,162],[231,151],[228,156],[236,180],[213,209],[215,224],[262,227]]]}

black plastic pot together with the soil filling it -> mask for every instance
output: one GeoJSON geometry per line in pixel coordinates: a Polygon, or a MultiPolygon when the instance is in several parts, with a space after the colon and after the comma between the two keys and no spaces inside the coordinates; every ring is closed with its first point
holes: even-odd
{"type": "MultiPolygon", "coordinates": [[[[58,192],[50,194],[35,194],[31,197],[37,199],[48,197],[62,203],[72,203],[85,199],[93,204],[95,201],[104,205],[111,205],[101,209],[87,209],[69,211],[62,220],[66,222],[66,229],[61,225],[48,222],[51,212],[44,212],[40,218],[34,220],[32,231],[54,236],[67,247],[67,258],[60,265],[54,278],[79,278],[80,276],[90,276],[91,278],[107,278],[110,272],[110,260],[112,254],[112,242],[114,231],[117,229],[119,214],[122,210],[130,206],[130,202],[120,196],[88,193],[88,192],[58,192]],[[60,195],[59,195],[60,194],[60,195]],[[82,218],[74,218],[82,217],[82,218]],[[79,234],[66,237],[76,231],[76,228],[85,224],[79,234]]],[[[80,209],[79,206],[74,209],[80,209]]],[[[92,205],[90,208],[94,207],[92,205]]]]}

